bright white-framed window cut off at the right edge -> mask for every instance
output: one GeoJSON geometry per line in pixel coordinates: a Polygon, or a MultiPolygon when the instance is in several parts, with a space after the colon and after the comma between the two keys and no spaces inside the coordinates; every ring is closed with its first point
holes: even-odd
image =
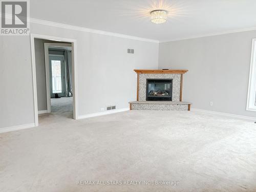
{"type": "Polygon", "coordinates": [[[246,110],[256,111],[256,38],[252,39],[251,67],[246,110]]]}

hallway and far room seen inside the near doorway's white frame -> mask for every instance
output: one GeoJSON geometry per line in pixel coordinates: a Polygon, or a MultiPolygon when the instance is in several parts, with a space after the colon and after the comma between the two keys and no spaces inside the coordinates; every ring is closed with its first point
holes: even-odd
{"type": "Polygon", "coordinates": [[[35,38],[34,52],[40,119],[52,115],[73,118],[72,44],[35,38]]]}

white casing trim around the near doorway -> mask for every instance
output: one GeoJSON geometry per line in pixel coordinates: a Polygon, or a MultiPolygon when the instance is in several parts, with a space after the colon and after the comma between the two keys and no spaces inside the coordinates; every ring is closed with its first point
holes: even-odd
{"type": "MultiPolygon", "coordinates": [[[[63,37],[55,37],[55,36],[44,35],[44,34],[30,33],[35,126],[38,126],[38,107],[37,107],[37,89],[36,89],[36,65],[35,65],[35,40],[34,40],[35,38],[46,39],[46,40],[56,40],[56,41],[63,41],[63,42],[71,42],[71,48],[72,48],[72,84],[73,84],[73,119],[78,119],[77,40],[76,39],[70,39],[70,38],[63,38],[63,37]]],[[[59,44],[58,44],[58,47],[59,47],[59,44]]],[[[45,53],[46,53],[46,51],[45,51],[45,53]]],[[[47,51],[47,53],[49,55],[48,51],[47,51]]],[[[48,58],[48,57],[45,57],[45,58],[48,58]]],[[[45,60],[48,60],[48,63],[49,63],[49,59],[45,59],[45,60]]],[[[50,79],[48,78],[48,86],[49,86],[49,80],[50,79]]],[[[47,95],[49,96],[49,92],[48,92],[47,95]]]]}

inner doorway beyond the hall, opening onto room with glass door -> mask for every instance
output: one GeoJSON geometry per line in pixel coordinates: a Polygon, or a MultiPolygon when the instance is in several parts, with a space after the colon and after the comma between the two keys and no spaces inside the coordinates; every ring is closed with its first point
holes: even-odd
{"type": "Polygon", "coordinates": [[[72,116],[72,47],[61,42],[45,42],[47,78],[47,111],[57,115],[72,116]]]}

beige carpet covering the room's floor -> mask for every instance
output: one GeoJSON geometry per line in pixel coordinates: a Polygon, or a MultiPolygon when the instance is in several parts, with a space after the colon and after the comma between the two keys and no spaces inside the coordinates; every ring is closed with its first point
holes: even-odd
{"type": "Polygon", "coordinates": [[[193,111],[71,117],[63,108],[0,134],[1,192],[256,191],[251,121],[193,111]],[[101,185],[77,184],[90,180],[101,185]]]}

